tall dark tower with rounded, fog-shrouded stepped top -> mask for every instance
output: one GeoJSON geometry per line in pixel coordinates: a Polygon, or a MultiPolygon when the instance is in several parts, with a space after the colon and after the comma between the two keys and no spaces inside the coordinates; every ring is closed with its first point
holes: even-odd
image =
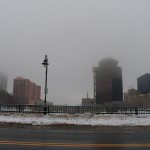
{"type": "Polygon", "coordinates": [[[122,69],[118,61],[106,58],[99,62],[94,72],[94,98],[96,104],[123,99],[122,69]]]}

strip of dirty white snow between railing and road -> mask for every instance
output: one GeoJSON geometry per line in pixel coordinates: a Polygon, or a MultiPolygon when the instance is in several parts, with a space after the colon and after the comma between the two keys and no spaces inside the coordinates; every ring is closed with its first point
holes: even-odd
{"type": "Polygon", "coordinates": [[[150,115],[92,115],[92,114],[0,114],[0,123],[20,123],[32,125],[91,125],[91,126],[139,126],[150,125],[150,115]]]}

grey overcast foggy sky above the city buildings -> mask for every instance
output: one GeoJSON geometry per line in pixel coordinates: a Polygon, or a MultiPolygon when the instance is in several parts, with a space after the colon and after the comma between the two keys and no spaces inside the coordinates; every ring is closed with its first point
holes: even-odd
{"type": "Polygon", "coordinates": [[[48,100],[79,105],[93,97],[92,67],[119,61],[123,90],[150,73],[150,0],[0,0],[0,70],[42,87],[49,58],[48,100]]]}

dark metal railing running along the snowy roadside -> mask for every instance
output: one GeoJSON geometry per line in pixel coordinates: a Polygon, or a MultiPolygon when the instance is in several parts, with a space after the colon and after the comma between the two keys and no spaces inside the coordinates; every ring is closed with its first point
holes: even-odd
{"type": "Polygon", "coordinates": [[[150,107],[101,107],[101,106],[44,106],[37,105],[0,105],[0,113],[39,113],[39,114],[126,114],[149,115],[150,107]]]}

